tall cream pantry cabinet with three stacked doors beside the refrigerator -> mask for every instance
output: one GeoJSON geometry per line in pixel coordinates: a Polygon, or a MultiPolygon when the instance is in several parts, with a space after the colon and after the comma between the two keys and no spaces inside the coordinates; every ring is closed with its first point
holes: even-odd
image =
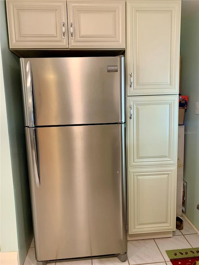
{"type": "Polygon", "coordinates": [[[180,0],[127,0],[130,240],[175,230],[180,14],[180,0]]]}

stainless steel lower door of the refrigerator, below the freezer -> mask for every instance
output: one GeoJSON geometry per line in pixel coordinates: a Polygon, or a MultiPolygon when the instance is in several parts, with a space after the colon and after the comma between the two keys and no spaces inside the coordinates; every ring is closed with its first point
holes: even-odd
{"type": "Polygon", "coordinates": [[[37,260],[127,251],[124,134],[124,124],[26,128],[37,260]]]}

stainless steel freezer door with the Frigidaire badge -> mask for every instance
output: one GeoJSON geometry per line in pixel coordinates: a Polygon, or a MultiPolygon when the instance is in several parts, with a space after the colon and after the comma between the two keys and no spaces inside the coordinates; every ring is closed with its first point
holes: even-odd
{"type": "Polygon", "coordinates": [[[25,126],[31,127],[31,100],[35,126],[125,121],[124,57],[21,58],[20,63],[25,126]]]}

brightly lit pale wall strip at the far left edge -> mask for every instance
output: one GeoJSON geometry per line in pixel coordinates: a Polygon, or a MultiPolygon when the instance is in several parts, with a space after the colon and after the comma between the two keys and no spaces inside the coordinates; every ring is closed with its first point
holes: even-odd
{"type": "Polygon", "coordinates": [[[14,187],[0,53],[0,238],[2,252],[18,251],[14,187]]]}

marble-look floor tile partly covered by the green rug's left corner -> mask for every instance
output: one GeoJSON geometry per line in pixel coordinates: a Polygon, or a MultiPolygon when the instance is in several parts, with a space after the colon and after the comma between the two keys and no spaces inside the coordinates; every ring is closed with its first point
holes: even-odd
{"type": "Polygon", "coordinates": [[[187,249],[192,246],[187,242],[183,235],[168,237],[168,238],[157,238],[155,239],[162,255],[166,261],[170,261],[165,250],[170,249],[187,249]]]}

